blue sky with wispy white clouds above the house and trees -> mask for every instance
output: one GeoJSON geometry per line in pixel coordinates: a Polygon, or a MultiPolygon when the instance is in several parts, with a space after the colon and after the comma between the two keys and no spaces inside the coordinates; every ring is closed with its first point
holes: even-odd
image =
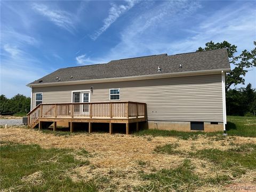
{"type": "MultiPolygon", "coordinates": [[[[255,1],[1,1],[1,94],[30,96],[26,84],[59,68],[210,41],[251,50],[255,18],[255,1]]],[[[245,77],[254,88],[255,71],[245,77]]]]}

